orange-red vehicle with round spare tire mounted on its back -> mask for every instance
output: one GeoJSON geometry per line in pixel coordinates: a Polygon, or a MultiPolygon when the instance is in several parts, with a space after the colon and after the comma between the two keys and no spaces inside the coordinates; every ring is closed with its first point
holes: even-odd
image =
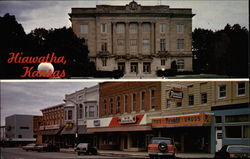
{"type": "Polygon", "coordinates": [[[152,158],[175,158],[176,147],[171,138],[153,137],[148,145],[148,154],[152,158]]]}

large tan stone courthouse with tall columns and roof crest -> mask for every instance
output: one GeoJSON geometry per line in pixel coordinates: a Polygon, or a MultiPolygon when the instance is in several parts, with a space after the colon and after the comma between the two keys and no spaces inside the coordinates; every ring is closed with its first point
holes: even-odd
{"type": "Polygon", "coordinates": [[[97,70],[152,77],[157,70],[192,71],[192,10],[167,5],[72,8],[73,31],[88,45],[97,70]]]}

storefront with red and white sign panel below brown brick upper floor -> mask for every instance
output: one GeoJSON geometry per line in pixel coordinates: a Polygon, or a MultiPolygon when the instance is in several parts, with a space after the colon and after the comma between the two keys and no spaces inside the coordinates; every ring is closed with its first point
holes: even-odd
{"type": "Polygon", "coordinates": [[[99,149],[146,151],[152,128],[147,115],[124,115],[87,121],[87,132],[93,133],[99,149]]]}

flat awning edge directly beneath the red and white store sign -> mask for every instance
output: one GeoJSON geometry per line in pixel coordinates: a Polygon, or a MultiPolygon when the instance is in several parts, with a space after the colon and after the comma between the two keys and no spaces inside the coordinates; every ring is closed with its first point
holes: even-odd
{"type": "Polygon", "coordinates": [[[129,132],[129,131],[150,131],[152,127],[149,125],[137,125],[137,126],[120,126],[120,127],[99,127],[88,128],[87,133],[96,132],[129,132]]]}

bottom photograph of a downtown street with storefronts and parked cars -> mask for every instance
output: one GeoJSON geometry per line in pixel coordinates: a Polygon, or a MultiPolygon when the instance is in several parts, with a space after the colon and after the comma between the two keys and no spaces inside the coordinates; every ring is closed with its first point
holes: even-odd
{"type": "Polygon", "coordinates": [[[249,80],[1,81],[1,158],[249,158],[249,80]]]}

